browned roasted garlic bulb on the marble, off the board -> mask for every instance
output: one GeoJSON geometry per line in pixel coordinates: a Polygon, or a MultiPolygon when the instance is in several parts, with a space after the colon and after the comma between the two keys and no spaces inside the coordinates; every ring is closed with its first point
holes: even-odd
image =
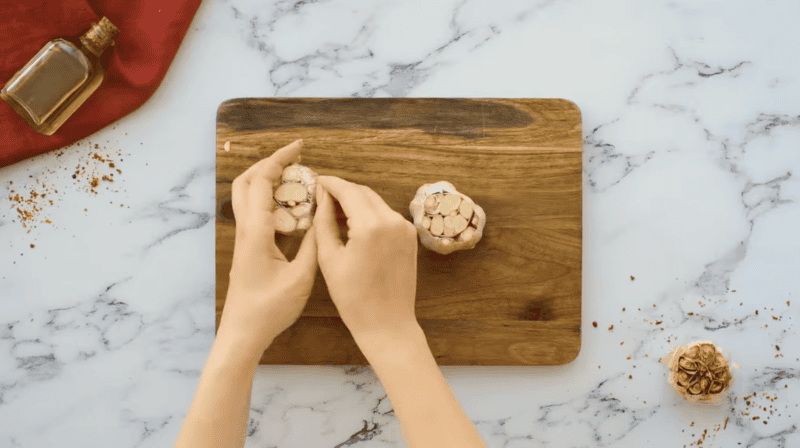
{"type": "Polygon", "coordinates": [[[677,347],[667,366],[672,387],[692,403],[717,403],[730,389],[728,360],[710,341],[677,347]]]}

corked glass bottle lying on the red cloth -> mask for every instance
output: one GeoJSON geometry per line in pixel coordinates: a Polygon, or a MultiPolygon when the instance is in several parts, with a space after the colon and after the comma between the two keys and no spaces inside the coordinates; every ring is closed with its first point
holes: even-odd
{"type": "Polygon", "coordinates": [[[52,135],[100,86],[100,56],[118,32],[103,17],[80,37],[80,47],[68,39],[48,42],[8,80],[0,97],[36,132],[52,135]]]}

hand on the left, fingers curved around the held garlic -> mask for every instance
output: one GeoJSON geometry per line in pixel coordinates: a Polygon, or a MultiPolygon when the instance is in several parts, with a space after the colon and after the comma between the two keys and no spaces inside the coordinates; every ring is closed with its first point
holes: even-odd
{"type": "Polygon", "coordinates": [[[257,356],[300,317],[317,272],[313,225],[291,262],[275,245],[273,188],[287,165],[300,162],[302,146],[297,140],[275,151],[232,184],[236,241],[218,335],[224,331],[244,339],[252,350],[260,350],[257,356]]]}

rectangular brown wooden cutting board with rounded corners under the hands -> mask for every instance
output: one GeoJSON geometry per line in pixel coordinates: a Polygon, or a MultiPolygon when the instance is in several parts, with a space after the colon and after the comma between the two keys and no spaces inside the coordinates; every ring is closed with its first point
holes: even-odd
{"type": "MultiPolygon", "coordinates": [[[[486,211],[483,239],[420,245],[416,312],[440,365],[557,365],[580,351],[581,116],[558,99],[226,101],[217,111],[217,326],[234,243],[231,182],[302,138],[303,164],[375,190],[409,221],[447,180],[486,211]],[[225,144],[230,142],[229,150],[225,144]]],[[[291,259],[299,239],[277,235],[291,259]]],[[[366,364],[318,272],[300,319],[262,364],[366,364]]]]}

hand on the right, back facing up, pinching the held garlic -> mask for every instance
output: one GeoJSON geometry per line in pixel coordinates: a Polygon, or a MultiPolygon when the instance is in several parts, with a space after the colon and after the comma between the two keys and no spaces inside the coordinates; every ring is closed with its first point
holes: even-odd
{"type": "Polygon", "coordinates": [[[418,326],[417,231],[371,188],[319,176],[314,216],[319,267],[339,315],[357,342],[418,326]],[[329,194],[330,193],[330,194],[329,194]],[[339,238],[333,199],[347,216],[339,238]]]}

